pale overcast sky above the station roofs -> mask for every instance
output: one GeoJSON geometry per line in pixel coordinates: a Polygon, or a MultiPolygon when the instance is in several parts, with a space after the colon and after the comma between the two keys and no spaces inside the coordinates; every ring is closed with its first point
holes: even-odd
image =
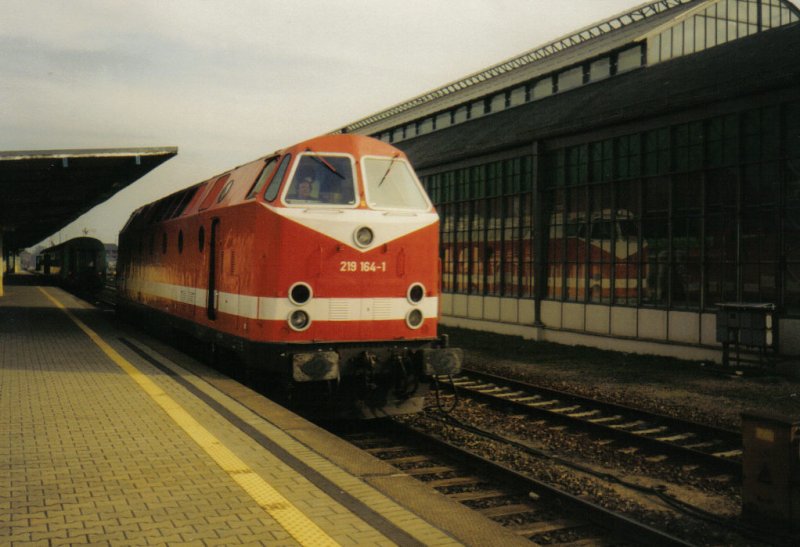
{"type": "Polygon", "coordinates": [[[177,146],[56,234],[140,205],[643,0],[2,0],[0,150],[177,146]]]}

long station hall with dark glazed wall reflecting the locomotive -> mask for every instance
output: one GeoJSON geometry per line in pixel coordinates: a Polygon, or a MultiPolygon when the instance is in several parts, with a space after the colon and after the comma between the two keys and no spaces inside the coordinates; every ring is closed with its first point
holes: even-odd
{"type": "Polygon", "coordinates": [[[799,22],[650,1],[340,131],[417,169],[445,325],[718,361],[720,310],[764,304],[798,356],[799,22]]]}

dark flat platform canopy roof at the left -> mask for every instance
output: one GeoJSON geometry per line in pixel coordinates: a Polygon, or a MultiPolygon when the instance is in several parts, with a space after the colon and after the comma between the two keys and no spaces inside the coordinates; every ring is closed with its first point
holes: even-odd
{"type": "Polygon", "coordinates": [[[0,152],[4,247],[36,244],[177,153],[177,147],[0,152]]]}

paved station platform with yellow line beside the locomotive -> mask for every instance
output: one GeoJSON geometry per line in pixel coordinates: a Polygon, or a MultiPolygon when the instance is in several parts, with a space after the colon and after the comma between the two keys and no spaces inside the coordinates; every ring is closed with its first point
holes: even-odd
{"type": "Polygon", "coordinates": [[[0,298],[0,544],[522,545],[55,287],[0,298]]]}

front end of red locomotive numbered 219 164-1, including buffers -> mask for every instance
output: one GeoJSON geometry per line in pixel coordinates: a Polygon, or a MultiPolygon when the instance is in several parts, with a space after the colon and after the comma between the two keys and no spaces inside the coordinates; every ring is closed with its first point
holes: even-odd
{"type": "Polygon", "coordinates": [[[437,335],[438,215],[405,157],[365,141],[297,154],[275,207],[274,317],[294,402],[371,418],[421,410],[462,354],[437,335]]]}

